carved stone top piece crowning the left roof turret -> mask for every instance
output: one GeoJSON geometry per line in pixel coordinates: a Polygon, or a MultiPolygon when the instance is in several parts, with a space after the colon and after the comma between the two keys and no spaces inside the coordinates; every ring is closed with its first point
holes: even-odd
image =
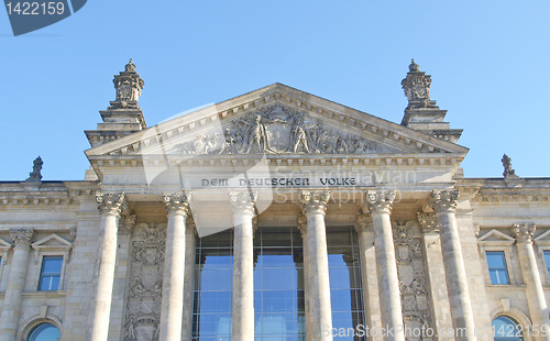
{"type": "Polygon", "coordinates": [[[117,99],[111,102],[109,109],[139,109],[138,100],[145,81],[135,72],[132,59],[127,64],[125,69],[112,80],[117,89],[117,99]]]}

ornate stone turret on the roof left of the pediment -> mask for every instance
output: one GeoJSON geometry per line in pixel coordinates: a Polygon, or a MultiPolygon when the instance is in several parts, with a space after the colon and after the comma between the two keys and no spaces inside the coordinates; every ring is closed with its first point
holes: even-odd
{"type": "Polygon", "coordinates": [[[102,123],[97,130],[86,131],[91,146],[130,135],[147,128],[138,100],[144,81],[135,72],[133,61],[127,64],[124,70],[114,75],[116,100],[110,102],[106,111],[100,111],[102,123]]]}

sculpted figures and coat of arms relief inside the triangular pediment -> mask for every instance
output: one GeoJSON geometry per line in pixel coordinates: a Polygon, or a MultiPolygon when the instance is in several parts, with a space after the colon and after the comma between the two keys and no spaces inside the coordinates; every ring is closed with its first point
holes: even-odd
{"type": "Polygon", "coordinates": [[[232,121],[213,134],[176,145],[180,154],[365,154],[377,145],[359,135],[341,135],[323,128],[318,119],[279,105],[262,108],[232,121]]]}

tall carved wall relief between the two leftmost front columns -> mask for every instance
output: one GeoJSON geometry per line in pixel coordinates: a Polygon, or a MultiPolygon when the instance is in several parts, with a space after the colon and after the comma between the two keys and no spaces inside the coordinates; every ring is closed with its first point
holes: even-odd
{"type": "Polygon", "coordinates": [[[158,340],[166,229],[156,223],[139,223],[135,229],[123,340],[158,340]]]}

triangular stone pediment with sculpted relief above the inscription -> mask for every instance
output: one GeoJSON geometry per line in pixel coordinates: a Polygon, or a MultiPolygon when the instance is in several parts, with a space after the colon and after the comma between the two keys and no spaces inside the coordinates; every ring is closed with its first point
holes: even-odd
{"type": "Polygon", "coordinates": [[[462,158],[468,148],[280,85],[175,117],[86,152],[101,156],[266,154],[462,158]],[[449,156],[452,155],[452,156],[449,156]]]}

